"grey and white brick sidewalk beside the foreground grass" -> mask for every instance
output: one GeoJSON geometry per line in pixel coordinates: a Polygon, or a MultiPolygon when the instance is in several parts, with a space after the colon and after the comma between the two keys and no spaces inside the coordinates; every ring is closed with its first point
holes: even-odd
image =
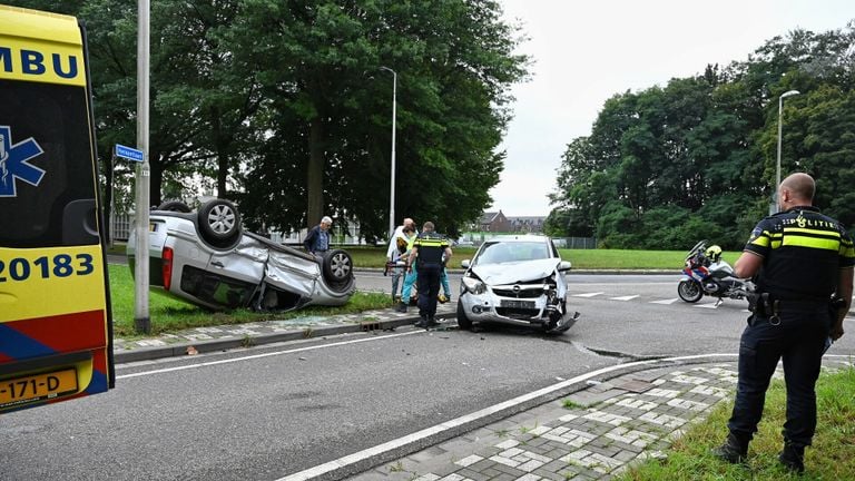
{"type": "Polygon", "coordinates": [[[731,395],[736,380],[734,361],[651,369],[605,383],[589,381],[587,389],[561,400],[350,479],[608,480],[631,463],[665,457],[685,429],[731,395]]]}

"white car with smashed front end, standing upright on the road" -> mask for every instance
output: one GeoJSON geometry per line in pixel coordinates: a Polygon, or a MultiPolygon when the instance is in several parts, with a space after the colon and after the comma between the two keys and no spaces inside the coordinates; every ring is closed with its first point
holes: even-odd
{"type": "Polygon", "coordinates": [[[570,262],[561,261],[546,236],[500,236],[484,242],[466,268],[460,286],[458,325],[481,323],[534,326],[560,334],[572,327],[578,312],[567,310],[570,262]]]}

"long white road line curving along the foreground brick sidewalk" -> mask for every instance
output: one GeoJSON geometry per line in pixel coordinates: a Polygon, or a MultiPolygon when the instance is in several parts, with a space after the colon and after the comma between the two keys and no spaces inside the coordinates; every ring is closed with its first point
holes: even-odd
{"type": "Polygon", "coordinates": [[[460,425],[463,425],[463,424],[476,421],[476,420],[479,420],[481,418],[489,416],[489,415],[494,414],[494,413],[497,413],[499,411],[502,411],[502,410],[505,410],[505,409],[509,409],[509,408],[513,408],[513,406],[515,406],[518,404],[521,404],[523,402],[531,401],[532,399],[537,399],[539,396],[549,394],[551,392],[554,392],[554,391],[568,387],[568,386],[573,385],[576,383],[588,381],[591,377],[596,377],[596,376],[598,376],[600,374],[605,374],[605,373],[608,373],[608,372],[611,372],[611,371],[616,371],[616,370],[620,370],[620,369],[626,369],[626,367],[631,367],[631,366],[645,365],[645,364],[650,364],[650,365],[665,364],[665,365],[667,365],[667,363],[671,363],[671,362],[675,362],[675,361],[688,361],[688,360],[696,360],[696,359],[704,359],[704,357],[720,357],[720,356],[736,357],[737,354],[698,354],[698,355],[691,355],[691,356],[668,357],[668,359],[662,359],[662,360],[636,361],[636,362],[631,362],[631,363],[616,364],[613,366],[602,367],[602,369],[599,369],[597,371],[589,372],[589,373],[586,373],[586,374],[580,374],[580,375],[578,375],[578,376],[576,376],[573,379],[567,380],[567,381],[562,381],[562,382],[557,383],[557,384],[552,384],[551,386],[547,386],[547,387],[540,389],[538,391],[533,391],[533,392],[530,392],[528,394],[523,394],[523,395],[517,396],[517,397],[514,397],[512,400],[508,400],[508,401],[501,402],[499,404],[493,404],[492,406],[484,408],[484,409],[482,409],[480,411],[475,411],[475,412],[473,412],[471,414],[462,415],[460,418],[446,421],[444,423],[436,424],[434,426],[423,429],[421,431],[414,432],[412,434],[407,434],[407,435],[399,438],[396,440],[392,440],[392,441],[389,441],[389,442],[385,442],[385,443],[382,443],[382,444],[377,444],[374,448],[368,448],[366,450],[362,450],[362,451],[355,452],[353,454],[348,454],[346,457],[338,458],[337,460],[333,460],[333,461],[326,462],[324,464],[318,464],[318,465],[316,465],[314,468],[309,468],[309,469],[296,472],[294,474],[288,474],[288,475],[284,477],[284,478],[279,478],[276,481],[305,481],[305,480],[308,480],[308,479],[312,479],[312,478],[315,478],[315,477],[320,477],[322,474],[328,473],[331,471],[335,471],[335,470],[344,468],[346,465],[354,464],[354,463],[357,463],[360,461],[366,460],[368,458],[382,454],[384,452],[392,451],[392,450],[401,448],[403,445],[406,445],[406,444],[410,444],[410,443],[423,440],[425,438],[429,438],[431,435],[441,433],[443,431],[448,431],[448,430],[454,429],[456,426],[460,426],[460,425]]]}

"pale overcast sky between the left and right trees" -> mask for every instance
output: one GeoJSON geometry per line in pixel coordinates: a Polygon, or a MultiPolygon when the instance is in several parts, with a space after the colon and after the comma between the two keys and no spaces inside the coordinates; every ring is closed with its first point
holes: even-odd
{"type": "Polygon", "coordinates": [[[775,36],[844,28],[854,0],[500,0],[530,38],[530,81],[512,89],[514,119],[490,210],[546,216],[567,145],[591,131],[618,92],[726,66],[775,36]]]}

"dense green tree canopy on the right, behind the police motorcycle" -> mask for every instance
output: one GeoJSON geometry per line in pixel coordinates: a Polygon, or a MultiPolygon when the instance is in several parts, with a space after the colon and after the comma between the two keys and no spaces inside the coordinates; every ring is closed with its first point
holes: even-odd
{"type": "Polygon", "coordinates": [[[855,222],[855,23],[795,30],[747,61],[627,91],[603,105],[591,134],[570,141],[559,169],[552,235],[601,246],[685,248],[709,238],[744,245],[768,213],[784,102],[782,177],[806,171],[815,204],[855,222]]]}

